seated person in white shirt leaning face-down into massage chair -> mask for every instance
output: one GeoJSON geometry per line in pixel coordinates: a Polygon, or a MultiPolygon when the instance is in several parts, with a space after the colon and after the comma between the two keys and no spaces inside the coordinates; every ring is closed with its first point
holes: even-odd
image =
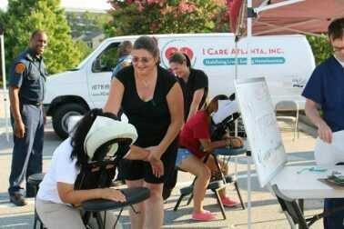
{"type": "MultiPolygon", "coordinates": [[[[76,190],[76,177],[81,164],[94,161],[102,145],[116,138],[137,139],[137,131],[132,124],[117,121],[116,115],[93,109],[86,114],[75,127],[73,135],[59,144],[53,154],[48,169],[35,199],[35,209],[47,228],[86,228],[82,214],[76,206],[90,199],[107,199],[125,202],[126,196],[114,188],[96,188],[76,190]]],[[[116,156],[117,144],[108,147],[106,158],[116,156]]],[[[126,153],[126,159],[145,160],[149,151],[142,150],[126,153]]],[[[156,161],[157,170],[163,169],[162,163],[156,161]]],[[[106,228],[112,228],[115,215],[106,214],[106,228]]],[[[94,223],[94,222],[93,222],[94,223]]],[[[92,222],[90,222],[92,224],[92,222]]],[[[95,223],[94,223],[95,224],[95,223]]]]}

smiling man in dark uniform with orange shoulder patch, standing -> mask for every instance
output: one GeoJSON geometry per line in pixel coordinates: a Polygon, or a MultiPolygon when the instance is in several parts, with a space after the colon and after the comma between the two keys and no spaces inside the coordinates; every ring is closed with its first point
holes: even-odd
{"type": "MultiPolygon", "coordinates": [[[[45,94],[46,66],[42,55],[46,49],[47,35],[36,30],[29,47],[13,63],[10,73],[9,97],[14,148],[8,193],[10,201],[25,205],[24,179],[42,172],[44,114],[42,101],[45,94]]],[[[34,187],[26,183],[26,197],[35,195],[34,187]]]]}

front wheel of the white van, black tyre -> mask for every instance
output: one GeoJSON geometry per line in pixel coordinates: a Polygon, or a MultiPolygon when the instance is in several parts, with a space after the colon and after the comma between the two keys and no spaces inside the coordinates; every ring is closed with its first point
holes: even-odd
{"type": "Polygon", "coordinates": [[[65,139],[68,137],[68,118],[73,115],[84,115],[87,109],[82,105],[66,104],[56,109],[53,115],[53,127],[55,133],[65,139]]]}

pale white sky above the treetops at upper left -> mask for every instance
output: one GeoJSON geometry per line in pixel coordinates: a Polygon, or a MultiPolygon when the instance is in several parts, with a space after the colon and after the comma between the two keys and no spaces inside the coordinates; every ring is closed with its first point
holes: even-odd
{"type": "MultiPolygon", "coordinates": [[[[1,9],[5,9],[6,5],[7,0],[0,0],[1,9]]],[[[61,5],[67,9],[73,9],[76,11],[106,11],[111,7],[111,5],[107,3],[107,0],[61,0],[61,5]]]]}

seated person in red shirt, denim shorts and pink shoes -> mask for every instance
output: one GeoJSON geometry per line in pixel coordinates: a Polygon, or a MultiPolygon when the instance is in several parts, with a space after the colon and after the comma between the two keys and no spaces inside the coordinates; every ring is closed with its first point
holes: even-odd
{"type": "MultiPolygon", "coordinates": [[[[180,169],[197,176],[194,184],[194,211],[192,219],[208,221],[215,219],[215,215],[203,209],[203,199],[206,194],[211,171],[217,169],[215,160],[209,156],[204,164],[204,157],[217,150],[226,150],[226,146],[242,144],[238,138],[225,136],[223,140],[211,141],[211,114],[218,111],[218,100],[228,99],[226,95],[215,96],[204,110],[200,110],[187,120],[179,134],[180,149],[177,154],[176,165],[180,169]]],[[[223,167],[227,173],[227,167],[223,167]]],[[[229,199],[226,190],[220,192],[222,203],[232,207],[238,201],[229,199]]]]}

